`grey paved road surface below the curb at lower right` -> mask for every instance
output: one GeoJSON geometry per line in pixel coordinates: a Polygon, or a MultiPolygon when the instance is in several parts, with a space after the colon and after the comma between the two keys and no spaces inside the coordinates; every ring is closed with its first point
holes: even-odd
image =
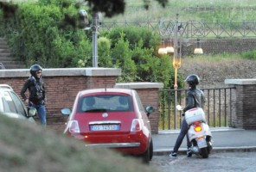
{"type": "Polygon", "coordinates": [[[154,156],[150,165],[156,166],[159,172],[253,172],[256,171],[256,152],[213,153],[207,159],[185,155],[154,156]]]}

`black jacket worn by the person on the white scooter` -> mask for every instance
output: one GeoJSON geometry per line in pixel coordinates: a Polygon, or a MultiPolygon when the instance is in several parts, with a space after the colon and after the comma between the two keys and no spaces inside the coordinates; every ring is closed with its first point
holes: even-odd
{"type": "Polygon", "coordinates": [[[204,107],[205,96],[200,89],[189,89],[186,96],[186,107],[184,107],[183,112],[194,107],[204,107]]]}

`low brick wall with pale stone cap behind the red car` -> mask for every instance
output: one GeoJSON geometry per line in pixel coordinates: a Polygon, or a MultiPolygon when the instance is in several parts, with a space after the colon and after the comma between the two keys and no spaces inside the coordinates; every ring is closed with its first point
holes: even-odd
{"type": "MultiPolygon", "coordinates": [[[[137,89],[144,107],[152,105],[156,112],[150,115],[152,132],[158,132],[159,105],[158,89],[163,83],[117,83],[120,69],[112,68],[63,68],[43,69],[42,77],[47,89],[47,122],[48,127],[62,132],[67,117],[61,115],[61,108],[73,107],[74,98],[82,89],[123,87],[137,89]]],[[[27,69],[0,70],[0,83],[9,84],[18,95],[23,83],[30,76],[27,69]]],[[[29,96],[29,91],[27,91],[29,96]]],[[[35,118],[38,120],[38,118],[35,118]]]]}

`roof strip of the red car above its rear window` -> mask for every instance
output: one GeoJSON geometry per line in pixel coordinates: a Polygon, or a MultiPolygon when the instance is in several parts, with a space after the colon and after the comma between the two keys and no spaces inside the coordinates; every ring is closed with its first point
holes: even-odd
{"type": "Polygon", "coordinates": [[[80,95],[90,95],[94,93],[120,93],[126,95],[132,95],[134,89],[115,89],[115,88],[102,88],[102,89],[85,89],[80,91],[80,95]]]}

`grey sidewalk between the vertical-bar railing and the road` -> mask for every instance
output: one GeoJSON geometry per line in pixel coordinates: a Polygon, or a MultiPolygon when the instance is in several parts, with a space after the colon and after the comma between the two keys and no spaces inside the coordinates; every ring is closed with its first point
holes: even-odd
{"type": "MultiPolygon", "coordinates": [[[[154,155],[169,155],[180,130],[159,131],[153,134],[154,155]]],[[[229,127],[211,128],[213,151],[256,151],[256,130],[244,130],[229,127]]],[[[183,139],[179,153],[187,151],[186,138],[183,139]]]]}

